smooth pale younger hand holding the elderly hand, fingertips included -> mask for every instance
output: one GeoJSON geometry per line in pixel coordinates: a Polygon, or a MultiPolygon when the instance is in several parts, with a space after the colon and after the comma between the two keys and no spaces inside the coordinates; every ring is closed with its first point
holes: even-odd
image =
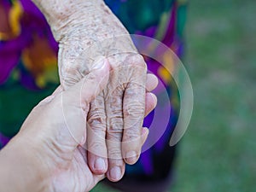
{"type": "MultiPolygon", "coordinates": [[[[109,63],[104,60],[79,83],[68,90],[60,86],[33,108],[20,132],[0,152],[0,189],[84,192],[105,177],[92,172],[88,165],[85,121],[90,102],[107,86],[108,79],[109,63]],[[63,113],[65,110],[68,113],[63,113]]],[[[156,85],[157,79],[148,74],[147,90],[156,85]]],[[[145,100],[147,115],[156,100],[149,92],[145,100]]],[[[141,145],[148,136],[148,129],[142,130],[141,145]]]]}

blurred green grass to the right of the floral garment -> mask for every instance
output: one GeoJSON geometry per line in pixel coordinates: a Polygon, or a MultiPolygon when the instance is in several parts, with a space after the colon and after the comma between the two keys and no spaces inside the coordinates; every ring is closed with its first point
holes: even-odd
{"type": "Polygon", "coordinates": [[[169,191],[255,191],[255,24],[255,0],[189,2],[184,64],[194,113],[169,191]]]}

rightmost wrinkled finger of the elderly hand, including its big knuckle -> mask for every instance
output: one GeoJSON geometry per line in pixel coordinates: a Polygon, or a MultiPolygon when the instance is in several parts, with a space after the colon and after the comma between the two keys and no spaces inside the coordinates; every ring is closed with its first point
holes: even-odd
{"type": "MultiPolygon", "coordinates": [[[[142,126],[145,114],[147,66],[143,57],[130,58],[133,73],[123,97],[124,131],[122,156],[127,164],[137,162],[142,148],[142,126]],[[127,144],[128,143],[128,144],[127,144]]],[[[150,88],[150,86],[149,86],[150,88]]]]}

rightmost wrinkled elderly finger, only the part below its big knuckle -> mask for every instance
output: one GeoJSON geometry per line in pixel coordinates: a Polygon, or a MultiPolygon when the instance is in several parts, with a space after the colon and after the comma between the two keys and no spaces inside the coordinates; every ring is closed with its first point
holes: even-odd
{"type": "Polygon", "coordinates": [[[145,88],[141,84],[128,84],[125,90],[123,111],[122,155],[126,163],[134,164],[141,153],[141,133],[145,114],[145,88]]]}

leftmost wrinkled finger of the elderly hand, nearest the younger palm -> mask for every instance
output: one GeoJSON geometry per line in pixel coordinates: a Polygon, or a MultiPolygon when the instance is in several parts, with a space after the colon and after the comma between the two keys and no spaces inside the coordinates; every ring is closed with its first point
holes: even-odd
{"type": "Polygon", "coordinates": [[[87,117],[88,164],[91,172],[104,174],[108,170],[106,146],[106,113],[103,92],[90,102],[87,117]]]}

